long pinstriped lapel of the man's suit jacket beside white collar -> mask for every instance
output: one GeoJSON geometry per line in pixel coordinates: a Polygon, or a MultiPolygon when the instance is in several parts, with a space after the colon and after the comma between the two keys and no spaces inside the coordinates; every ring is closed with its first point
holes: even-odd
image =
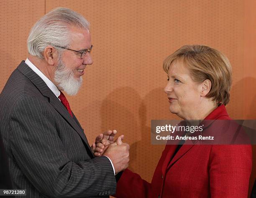
{"type": "Polygon", "coordinates": [[[90,145],[87,141],[87,138],[85,137],[85,134],[80,128],[80,126],[76,123],[76,121],[69,115],[67,109],[62,105],[62,103],[59,101],[59,99],[54,95],[54,93],[49,89],[49,87],[46,85],[44,80],[40,78],[31,68],[26,65],[24,61],[20,63],[20,65],[17,68],[21,73],[23,73],[31,82],[38,88],[38,90],[44,95],[45,97],[49,98],[49,103],[59,112],[59,114],[69,123],[69,125],[74,128],[74,130],[80,135],[83,142],[87,146],[87,151],[92,155],[93,153],[90,149],[90,145]]]}

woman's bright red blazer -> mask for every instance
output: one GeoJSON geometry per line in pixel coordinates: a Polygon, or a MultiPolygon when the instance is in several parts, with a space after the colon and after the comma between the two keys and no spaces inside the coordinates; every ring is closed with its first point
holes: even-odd
{"type": "MultiPolygon", "coordinates": [[[[230,120],[224,105],[206,120],[230,120]]],[[[166,145],[151,183],[126,169],[117,198],[247,198],[251,145],[166,145]],[[171,160],[172,159],[172,160],[171,160]],[[170,161],[171,160],[171,161],[170,161]]]]}

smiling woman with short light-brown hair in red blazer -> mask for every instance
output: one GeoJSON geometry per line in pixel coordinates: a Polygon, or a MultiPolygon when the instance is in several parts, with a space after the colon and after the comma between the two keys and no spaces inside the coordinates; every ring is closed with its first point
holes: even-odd
{"type": "MultiPolygon", "coordinates": [[[[183,46],[164,61],[169,110],[184,120],[230,120],[231,65],[213,48],[183,46]]],[[[126,169],[117,198],[247,198],[251,145],[166,145],[151,183],[126,169]]]]}

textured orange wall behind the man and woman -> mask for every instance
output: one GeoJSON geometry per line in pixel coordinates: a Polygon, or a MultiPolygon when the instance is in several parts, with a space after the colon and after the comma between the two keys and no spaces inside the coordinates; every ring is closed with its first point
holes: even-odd
{"type": "MultiPolygon", "coordinates": [[[[233,66],[228,112],[256,119],[254,0],[2,0],[0,91],[27,57],[30,28],[55,7],[71,8],[91,23],[94,64],[78,95],[68,97],[72,110],[90,143],[107,129],[124,134],[130,168],[142,178],[151,180],[164,148],[151,145],[150,121],[178,119],[168,110],[162,62],[180,46],[204,44],[227,55],[233,66]]],[[[254,168],[251,183],[255,175],[254,168]]]]}

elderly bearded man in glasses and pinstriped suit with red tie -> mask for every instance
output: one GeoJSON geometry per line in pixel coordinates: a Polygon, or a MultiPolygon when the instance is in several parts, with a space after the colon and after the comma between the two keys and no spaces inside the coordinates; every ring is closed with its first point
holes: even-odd
{"type": "Polygon", "coordinates": [[[61,92],[75,95],[86,65],[92,64],[89,23],[57,8],[33,26],[27,45],[28,58],[0,95],[0,132],[13,188],[26,189],[33,198],[114,194],[115,174],[128,166],[129,145],[120,136],[105,156],[94,157],[61,92]]]}

